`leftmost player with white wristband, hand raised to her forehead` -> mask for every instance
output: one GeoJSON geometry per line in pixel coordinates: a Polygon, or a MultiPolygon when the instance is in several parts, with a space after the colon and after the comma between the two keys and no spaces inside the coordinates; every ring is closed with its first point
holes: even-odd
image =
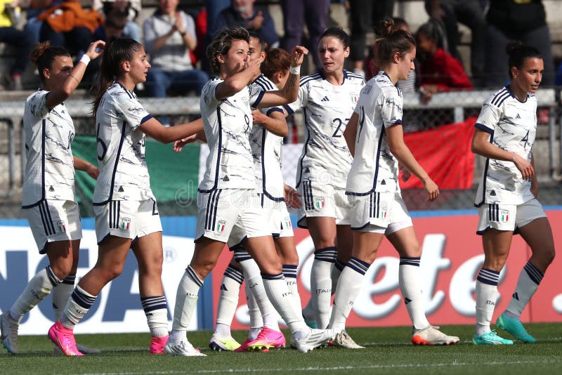
{"type": "Polygon", "coordinates": [[[70,53],[49,42],[37,44],[31,59],[42,88],[25,101],[23,126],[27,163],[22,209],[30,222],[40,254],[49,265],[35,275],[11,309],[0,317],[2,343],[18,353],[18,328],[23,315],[53,292],[55,320],[74,287],[82,229],[74,195],[74,169],[93,178],[98,169],[72,155],[74,124],[64,101],[77,88],[86,65],[103,51],[105,42],[90,44],[74,67],[70,53]]]}

